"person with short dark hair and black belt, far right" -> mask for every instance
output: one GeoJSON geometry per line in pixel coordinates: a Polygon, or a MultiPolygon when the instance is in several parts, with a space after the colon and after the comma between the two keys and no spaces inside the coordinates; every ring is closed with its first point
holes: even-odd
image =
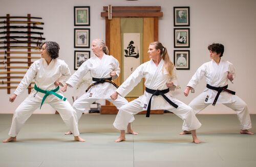
{"type": "MultiPolygon", "coordinates": [[[[219,43],[213,43],[208,46],[210,51],[210,62],[204,63],[199,67],[193,77],[187,84],[184,95],[187,96],[191,89],[195,89],[199,81],[206,77],[206,89],[198,95],[188,105],[198,114],[209,104],[224,104],[237,112],[238,120],[241,124],[241,134],[254,134],[248,129],[251,128],[250,114],[247,104],[235,92],[227,89],[228,80],[232,82],[236,76],[233,64],[221,59],[224,52],[224,46],[219,43]]],[[[187,134],[189,131],[183,131],[180,134],[187,134]]]]}

